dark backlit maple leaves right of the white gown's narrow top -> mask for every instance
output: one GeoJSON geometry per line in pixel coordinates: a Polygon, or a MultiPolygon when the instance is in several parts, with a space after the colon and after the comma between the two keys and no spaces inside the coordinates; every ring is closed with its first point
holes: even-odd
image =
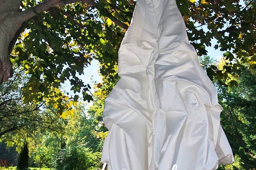
{"type": "Polygon", "coordinates": [[[198,50],[198,55],[206,55],[205,46],[211,45],[212,38],[217,40],[215,49],[223,51],[226,59],[222,70],[211,65],[207,69],[208,76],[218,80],[227,78],[240,63],[247,63],[255,70],[255,3],[245,1],[180,1],[178,4],[188,30],[189,40],[198,50]],[[248,8],[251,6],[251,8],[248,8]],[[254,18],[254,19],[253,19],[254,18]],[[253,21],[251,20],[253,19],[253,21]],[[186,22],[187,20],[187,22],[186,22]],[[198,23],[195,25],[195,23],[198,23]],[[204,27],[207,26],[207,28],[204,27]],[[201,29],[198,29],[201,28],[201,29]],[[203,31],[205,28],[207,31],[203,31]],[[196,44],[200,40],[200,43],[196,44]]]}

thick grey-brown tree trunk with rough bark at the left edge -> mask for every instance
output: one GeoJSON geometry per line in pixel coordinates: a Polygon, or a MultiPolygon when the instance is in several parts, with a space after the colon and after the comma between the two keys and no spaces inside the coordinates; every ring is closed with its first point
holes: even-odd
{"type": "Polygon", "coordinates": [[[18,19],[21,14],[20,4],[21,0],[0,0],[0,83],[13,74],[10,54],[15,42],[11,41],[22,25],[22,21],[18,19]]]}

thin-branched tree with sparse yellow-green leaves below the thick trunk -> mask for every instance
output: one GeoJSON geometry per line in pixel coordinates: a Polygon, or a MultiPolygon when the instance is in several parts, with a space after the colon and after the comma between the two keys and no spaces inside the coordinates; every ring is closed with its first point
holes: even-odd
{"type": "Polygon", "coordinates": [[[21,87],[28,78],[22,71],[14,71],[13,78],[0,84],[0,139],[5,140],[8,147],[16,144],[20,152],[24,139],[32,149],[40,133],[61,133],[65,121],[45,103],[24,104],[21,87]]]}

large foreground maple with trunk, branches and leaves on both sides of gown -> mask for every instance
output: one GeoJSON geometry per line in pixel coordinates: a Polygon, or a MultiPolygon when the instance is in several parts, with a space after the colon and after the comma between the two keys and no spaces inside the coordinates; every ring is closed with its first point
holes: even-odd
{"type": "MultiPolygon", "coordinates": [[[[62,104],[63,97],[55,90],[66,80],[70,81],[71,90],[82,92],[84,100],[92,100],[90,85],[78,76],[92,58],[99,60],[102,75],[116,79],[111,74],[134,1],[1,0],[0,4],[0,82],[11,77],[11,63],[21,66],[30,75],[24,86],[25,102],[48,100],[54,105],[57,100],[58,113],[62,114],[70,108],[62,104]]],[[[226,77],[237,67],[233,60],[249,63],[255,70],[253,0],[246,6],[238,0],[177,0],[177,5],[188,37],[200,56],[206,54],[205,46],[211,45],[212,38],[218,41],[215,48],[225,52],[229,61],[225,71],[209,66],[210,78],[226,77]]],[[[77,101],[78,96],[70,99],[77,101]]]]}

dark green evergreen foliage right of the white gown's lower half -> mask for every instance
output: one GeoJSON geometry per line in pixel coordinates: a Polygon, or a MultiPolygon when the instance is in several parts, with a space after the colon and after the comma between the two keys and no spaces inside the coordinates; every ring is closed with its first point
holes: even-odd
{"type": "Polygon", "coordinates": [[[223,106],[221,123],[229,139],[237,169],[256,167],[256,75],[248,65],[240,65],[236,76],[226,81],[238,82],[238,86],[224,87],[219,85],[219,99],[223,106]]]}

